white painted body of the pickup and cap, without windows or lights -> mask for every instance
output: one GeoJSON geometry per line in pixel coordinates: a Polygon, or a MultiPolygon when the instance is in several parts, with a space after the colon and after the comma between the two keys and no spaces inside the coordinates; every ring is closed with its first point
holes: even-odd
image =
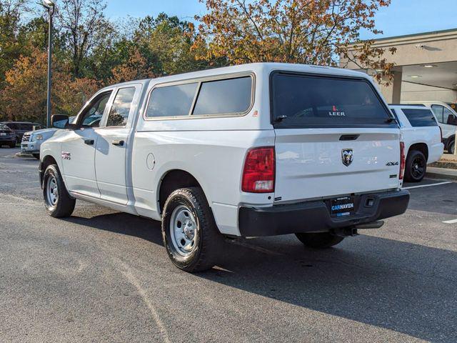
{"type": "Polygon", "coordinates": [[[66,188],[77,199],[151,219],[161,219],[161,180],[176,169],[188,172],[201,185],[220,232],[233,236],[240,235],[241,206],[268,208],[401,188],[398,128],[275,129],[269,87],[275,70],[351,76],[373,84],[369,76],[357,71],[291,64],[247,64],[119,84],[102,89],[88,101],[91,104],[99,94],[112,91],[100,127],[60,130],[42,144],[41,161],[53,156],[66,188]],[[246,113],[146,118],[149,95],[158,86],[240,76],[253,80],[246,113]],[[114,94],[129,86],[142,87],[132,102],[129,122],[105,127],[114,94]],[[359,137],[340,141],[342,134],[359,137]],[[94,143],[85,144],[87,139],[94,143]],[[119,139],[125,141],[124,146],[112,144],[119,139]],[[241,191],[243,163],[248,149],[256,146],[275,146],[275,192],[241,191]],[[350,166],[341,163],[341,150],[346,148],[353,149],[350,166]],[[389,162],[397,164],[388,166],[389,162]]]}

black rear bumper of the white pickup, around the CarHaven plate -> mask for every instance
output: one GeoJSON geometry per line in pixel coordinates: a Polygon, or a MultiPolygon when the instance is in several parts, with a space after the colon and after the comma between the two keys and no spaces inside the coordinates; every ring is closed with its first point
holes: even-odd
{"type": "Polygon", "coordinates": [[[241,207],[238,224],[241,236],[261,237],[303,232],[331,232],[403,214],[408,208],[406,190],[362,194],[356,197],[356,212],[350,217],[331,217],[328,201],[319,200],[273,207],[241,207]],[[366,206],[373,199],[371,207],[366,206]]]}

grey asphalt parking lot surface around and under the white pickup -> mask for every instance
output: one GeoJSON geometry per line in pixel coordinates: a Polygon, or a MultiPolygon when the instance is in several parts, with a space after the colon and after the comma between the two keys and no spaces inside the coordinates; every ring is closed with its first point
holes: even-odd
{"type": "Polygon", "coordinates": [[[160,225],[79,202],[49,217],[35,159],[0,149],[0,342],[457,342],[457,183],[333,249],[227,243],[186,274],[160,225]]]}

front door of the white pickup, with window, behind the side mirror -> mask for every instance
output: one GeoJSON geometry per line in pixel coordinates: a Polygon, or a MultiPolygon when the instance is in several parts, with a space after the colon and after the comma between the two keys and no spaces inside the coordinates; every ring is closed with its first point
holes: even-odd
{"type": "Polygon", "coordinates": [[[61,144],[66,187],[71,192],[100,197],[96,184],[94,158],[99,138],[100,119],[109,103],[112,90],[96,94],[76,118],[78,129],[69,130],[61,144]]]}

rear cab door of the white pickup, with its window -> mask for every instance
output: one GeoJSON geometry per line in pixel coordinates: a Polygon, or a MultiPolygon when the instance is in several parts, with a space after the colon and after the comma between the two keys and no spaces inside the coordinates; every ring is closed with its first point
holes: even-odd
{"type": "Polygon", "coordinates": [[[95,170],[101,199],[127,204],[127,164],[129,136],[138,106],[141,84],[116,89],[114,100],[106,111],[96,142],[95,170]]]}

